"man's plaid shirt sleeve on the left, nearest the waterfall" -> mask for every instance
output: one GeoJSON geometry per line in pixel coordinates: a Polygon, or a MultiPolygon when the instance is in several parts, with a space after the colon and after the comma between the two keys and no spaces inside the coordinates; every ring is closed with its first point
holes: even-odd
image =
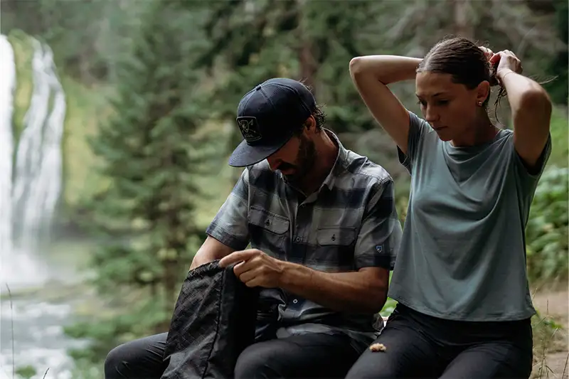
{"type": "Polygon", "coordinates": [[[243,170],[233,190],[218,210],[206,233],[235,250],[249,243],[249,171],[243,170]]]}

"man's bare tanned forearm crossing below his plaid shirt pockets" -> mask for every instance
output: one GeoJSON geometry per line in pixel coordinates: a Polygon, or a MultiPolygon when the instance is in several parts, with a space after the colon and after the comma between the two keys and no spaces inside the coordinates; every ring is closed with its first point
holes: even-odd
{"type": "Polygon", "coordinates": [[[363,272],[320,272],[283,262],[282,289],[336,311],[377,312],[387,299],[387,288],[363,272]]]}

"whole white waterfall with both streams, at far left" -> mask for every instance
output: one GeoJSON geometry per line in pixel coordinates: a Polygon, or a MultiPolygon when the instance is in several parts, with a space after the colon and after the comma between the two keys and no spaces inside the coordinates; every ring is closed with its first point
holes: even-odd
{"type": "Polygon", "coordinates": [[[6,36],[0,41],[0,252],[2,281],[9,285],[37,284],[48,278],[41,267],[41,252],[48,242],[62,185],[65,93],[55,73],[53,52],[36,39],[31,41],[33,92],[16,154],[12,133],[14,53],[6,36]]]}

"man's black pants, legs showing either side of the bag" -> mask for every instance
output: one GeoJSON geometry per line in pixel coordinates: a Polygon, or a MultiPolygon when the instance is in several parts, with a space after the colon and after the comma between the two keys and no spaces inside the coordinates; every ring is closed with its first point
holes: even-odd
{"type": "MultiPolygon", "coordinates": [[[[110,351],[105,379],[159,379],[166,333],[124,343],[110,351]]],[[[360,356],[344,334],[309,333],[254,343],[240,354],[235,379],[344,378],[360,356]]]]}

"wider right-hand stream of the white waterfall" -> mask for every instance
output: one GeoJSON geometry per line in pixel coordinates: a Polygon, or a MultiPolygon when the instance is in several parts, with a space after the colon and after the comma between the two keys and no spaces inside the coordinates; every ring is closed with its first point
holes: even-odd
{"type": "Polygon", "coordinates": [[[18,144],[13,193],[15,219],[21,218],[14,240],[24,250],[38,248],[38,237],[49,227],[59,198],[65,119],[65,95],[55,75],[53,53],[48,46],[34,43],[33,95],[18,144]]]}

